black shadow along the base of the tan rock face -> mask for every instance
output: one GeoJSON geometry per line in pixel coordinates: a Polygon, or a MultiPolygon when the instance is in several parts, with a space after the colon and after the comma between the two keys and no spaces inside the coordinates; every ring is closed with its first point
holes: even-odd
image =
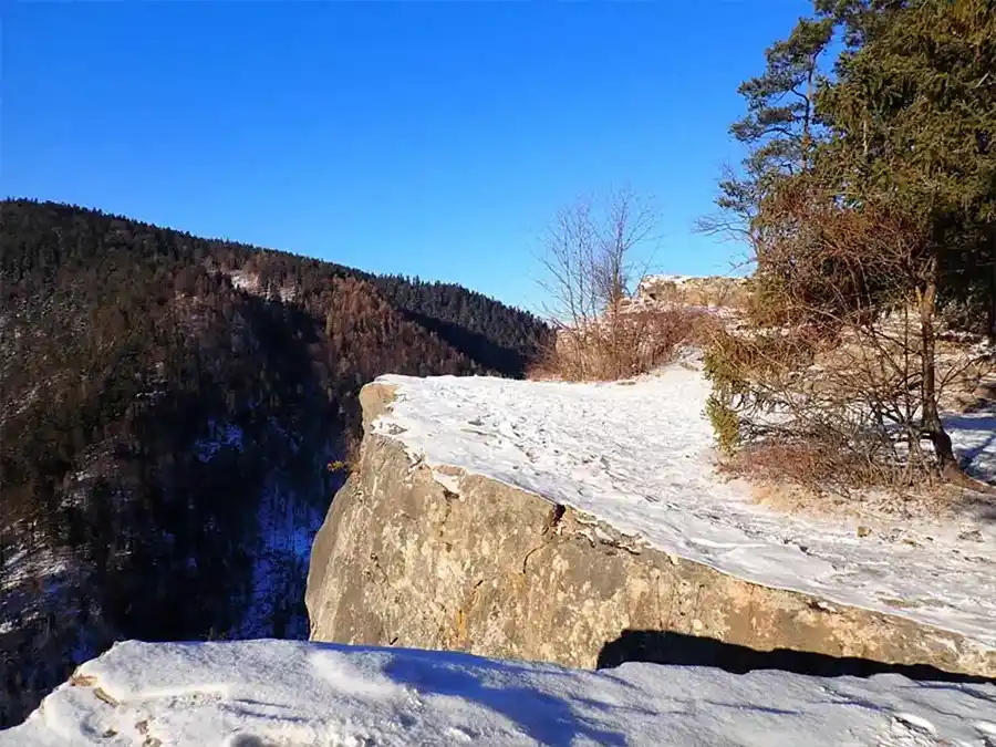
{"type": "Polygon", "coordinates": [[[821,677],[845,675],[869,677],[874,674],[893,673],[915,681],[994,682],[987,677],[946,672],[927,664],[886,664],[857,656],[829,656],[788,649],[757,651],[716,639],[668,631],[623,631],[618,639],[602,646],[596,668],[611,668],[626,662],[712,666],[735,674],[746,674],[756,670],[781,670],[821,677]]]}

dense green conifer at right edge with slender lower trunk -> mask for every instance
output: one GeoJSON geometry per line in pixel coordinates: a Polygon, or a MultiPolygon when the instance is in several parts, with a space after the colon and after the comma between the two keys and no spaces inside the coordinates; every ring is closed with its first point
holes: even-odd
{"type": "Polygon", "coordinates": [[[937,413],[933,329],[945,298],[983,281],[965,270],[988,266],[988,333],[996,334],[996,2],[925,0],[874,17],[865,9],[844,23],[858,41],[819,95],[832,132],[821,169],[849,204],[888,205],[927,221],[916,289],[923,425],[952,474],[957,463],[937,413]]]}

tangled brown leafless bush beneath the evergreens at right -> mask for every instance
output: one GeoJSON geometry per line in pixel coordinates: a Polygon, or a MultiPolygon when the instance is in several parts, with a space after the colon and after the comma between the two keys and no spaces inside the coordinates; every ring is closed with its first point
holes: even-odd
{"type": "Polygon", "coordinates": [[[705,355],[707,413],[732,464],[811,487],[959,473],[937,403],[967,366],[938,355],[922,225],[806,190],[767,209],[750,323],[705,355]]]}

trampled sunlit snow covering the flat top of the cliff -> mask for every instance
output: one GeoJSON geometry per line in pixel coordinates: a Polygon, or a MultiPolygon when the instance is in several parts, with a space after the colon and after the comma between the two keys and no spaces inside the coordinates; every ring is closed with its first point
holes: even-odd
{"type": "MultiPolygon", "coordinates": [[[[604,384],[382,376],[396,401],[374,428],[413,460],[448,465],[591,515],[650,546],[767,587],[900,615],[996,646],[996,526],[904,520],[891,535],[788,516],[713,469],[694,365],[604,384]],[[973,539],[974,538],[974,539],[973,539]]],[[[996,477],[992,421],[952,419],[973,468],[996,477]],[[987,471],[988,470],[988,471],[987,471]]],[[[445,483],[458,488],[453,480],[445,483]]],[[[454,490],[458,492],[458,489],[454,490]]]]}

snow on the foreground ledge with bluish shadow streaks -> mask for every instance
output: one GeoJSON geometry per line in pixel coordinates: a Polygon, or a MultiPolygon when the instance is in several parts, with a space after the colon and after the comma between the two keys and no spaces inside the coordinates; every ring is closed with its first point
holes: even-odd
{"type": "Polygon", "coordinates": [[[987,747],[994,735],[992,684],[636,663],[583,672],[294,641],[129,641],[80,667],[22,726],[0,732],[0,747],[987,747]]]}

